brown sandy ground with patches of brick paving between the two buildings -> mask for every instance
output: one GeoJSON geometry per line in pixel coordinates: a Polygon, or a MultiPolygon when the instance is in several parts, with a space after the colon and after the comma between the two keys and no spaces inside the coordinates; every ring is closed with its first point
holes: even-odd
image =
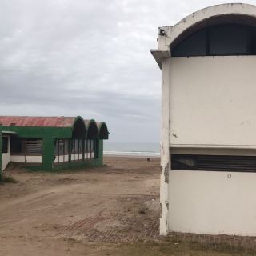
{"type": "Polygon", "coordinates": [[[0,186],[0,255],[107,255],[111,243],[156,238],[159,159],[104,162],[61,173],[10,166],[18,183],[0,186]]]}

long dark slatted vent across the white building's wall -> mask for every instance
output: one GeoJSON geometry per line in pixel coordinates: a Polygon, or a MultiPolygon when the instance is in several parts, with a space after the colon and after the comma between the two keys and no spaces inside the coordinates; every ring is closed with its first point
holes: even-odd
{"type": "Polygon", "coordinates": [[[172,170],[256,172],[256,157],[202,154],[171,154],[172,170]]]}

